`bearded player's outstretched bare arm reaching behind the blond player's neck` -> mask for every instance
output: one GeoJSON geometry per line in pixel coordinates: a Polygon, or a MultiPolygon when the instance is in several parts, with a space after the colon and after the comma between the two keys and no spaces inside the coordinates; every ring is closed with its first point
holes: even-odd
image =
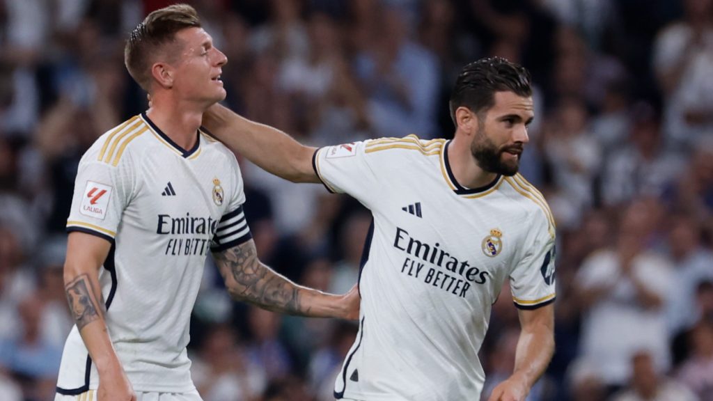
{"type": "Polygon", "coordinates": [[[215,104],[203,114],[203,126],[225,146],[265,171],[295,183],[319,183],[312,168],[316,148],[304,146],[277,128],[250,121],[215,104]]]}

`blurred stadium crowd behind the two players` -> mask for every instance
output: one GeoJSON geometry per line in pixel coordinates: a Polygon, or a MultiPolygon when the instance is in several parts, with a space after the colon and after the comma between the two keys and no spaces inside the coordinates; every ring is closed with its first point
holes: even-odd
{"type": "MultiPolygon", "coordinates": [[[[499,55],[528,67],[537,117],[521,172],[558,222],[557,351],[530,400],[629,386],[713,400],[713,1],[188,3],[229,59],[225,103],[314,146],[451,137],[461,66],[499,55]]],[[[123,40],[167,4],[0,1],[0,400],[53,398],[72,324],[61,265],[76,166],[145,109],[123,40]]],[[[366,210],[241,164],[260,258],[348,290],[366,210]]],[[[511,372],[518,330],[506,288],[481,352],[486,388],[511,372]]],[[[321,401],[356,328],[231,303],[210,265],[192,333],[206,401],[321,401]]]]}

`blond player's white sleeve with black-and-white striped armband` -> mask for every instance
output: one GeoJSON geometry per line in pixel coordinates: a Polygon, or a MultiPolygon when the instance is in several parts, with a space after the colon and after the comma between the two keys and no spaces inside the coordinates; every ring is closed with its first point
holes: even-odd
{"type": "MultiPolygon", "coordinates": [[[[232,156],[232,155],[231,155],[232,156]]],[[[242,175],[240,174],[240,166],[237,164],[235,156],[231,158],[231,175],[232,175],[232,191],[228,199],[228,205],[225,213],[220,218],[213,235],[210,250],[212,252],[222,252],[234,246],[245,243],[252,238],[250,227],[245,220],[245,188],[242,183],[242,175]]],[[[222,189],[218,189],[220,183],[215,183],[213,187],[213,196],[221,196],[222,189]],[[216,192],[219,194],[217,195],[216,192]]]]}

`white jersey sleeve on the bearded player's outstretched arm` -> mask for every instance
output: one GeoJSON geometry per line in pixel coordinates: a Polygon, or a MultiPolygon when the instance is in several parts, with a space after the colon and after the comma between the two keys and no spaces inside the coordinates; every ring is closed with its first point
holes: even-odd
{"type": "Polygon", "coordinates": [[[347,193],[362,203],[378,191],[374,158],[366,142],[344,143],[319,148],[312,156],[312,167],[327,190],[347,193]]]}

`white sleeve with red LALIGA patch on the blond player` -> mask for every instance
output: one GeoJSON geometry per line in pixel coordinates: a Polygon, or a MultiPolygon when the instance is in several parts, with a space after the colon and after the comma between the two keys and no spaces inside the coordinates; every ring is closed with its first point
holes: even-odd
{"type": "Polygon", "coordinates": [[[113,166],[93,160],[92,155],[87,153],[79,163],[67,231],[81,231],[113,242],[133,193],[133,166],[129,158],[113,166]]]}

